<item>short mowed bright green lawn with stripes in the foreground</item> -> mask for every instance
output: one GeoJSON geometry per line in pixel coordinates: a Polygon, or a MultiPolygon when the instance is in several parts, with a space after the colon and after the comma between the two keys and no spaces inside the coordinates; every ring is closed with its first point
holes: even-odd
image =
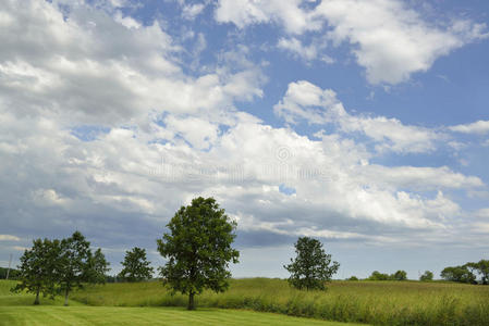
{"type": "Polygon", "coordinates": [[[358,325],[245,310],[88,306],[73,300],[62,306],[61,298],[41,298],[41,305],[34,306],[33,294],[9,291],[14,284],[0,280],[0,325],[358,325]]]}

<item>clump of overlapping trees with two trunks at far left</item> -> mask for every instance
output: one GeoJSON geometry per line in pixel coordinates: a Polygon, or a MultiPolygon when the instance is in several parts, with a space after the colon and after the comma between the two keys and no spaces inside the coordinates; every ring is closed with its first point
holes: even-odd
{"type": "Polygon", "coordinates": [[[33,247],[21,256],[20,283],[11,290],[35,293],[34,304],[39,304],[40,293],[54,298],[63,292],[64,305],[68,305],[73,289],[86,283],[105,283],[109,263],[100,249],[93,253],[89,246],[80,231],[61,241],[34,240],[33,247]]]}

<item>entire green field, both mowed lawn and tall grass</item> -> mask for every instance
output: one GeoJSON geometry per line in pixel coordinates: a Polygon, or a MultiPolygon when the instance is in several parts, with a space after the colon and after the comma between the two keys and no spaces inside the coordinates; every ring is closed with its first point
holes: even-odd
{"type": "Polygon", "coordinates": [[[0,281],[1,325],[489,325],[489,287],[450,283],[333,281],[322,292],[233,279],[224,293],[198,296],[196,312],[158,281],[88,287],[69,308],[61,298],[33,306],[33,294],[9,292],[13,284],[0,281]]]}

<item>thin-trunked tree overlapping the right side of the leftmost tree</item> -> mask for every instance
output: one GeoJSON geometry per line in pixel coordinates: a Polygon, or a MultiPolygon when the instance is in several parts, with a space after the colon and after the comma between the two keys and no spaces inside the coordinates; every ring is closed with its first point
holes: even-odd
{"type": "Polygon", "coordinates": [[[61,240],[61,254],[57,268],[60,290],[64,292],[64,305],[68,305],[68,299],[73,289],[83,288],[85,281],[93,281],[90,261],[90,242],[85,240],[80,231],[61,240]]]}

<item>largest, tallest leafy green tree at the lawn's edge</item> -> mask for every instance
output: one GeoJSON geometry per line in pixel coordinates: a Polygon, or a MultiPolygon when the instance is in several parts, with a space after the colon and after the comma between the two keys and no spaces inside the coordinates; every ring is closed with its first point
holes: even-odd
{"type": "Polygon", "coordinates": [[[168,259],[160,267],[163,285],[173,292],[188,293],[188,310],[195,309],[194,296],[204,289],[228,289],[229,263],[240,253],[231,247],[236,223],[231,221],[213,198],[196,198],[182,206],[167,224],[169,233],[157,239],[158,251],[168,259]]]}

